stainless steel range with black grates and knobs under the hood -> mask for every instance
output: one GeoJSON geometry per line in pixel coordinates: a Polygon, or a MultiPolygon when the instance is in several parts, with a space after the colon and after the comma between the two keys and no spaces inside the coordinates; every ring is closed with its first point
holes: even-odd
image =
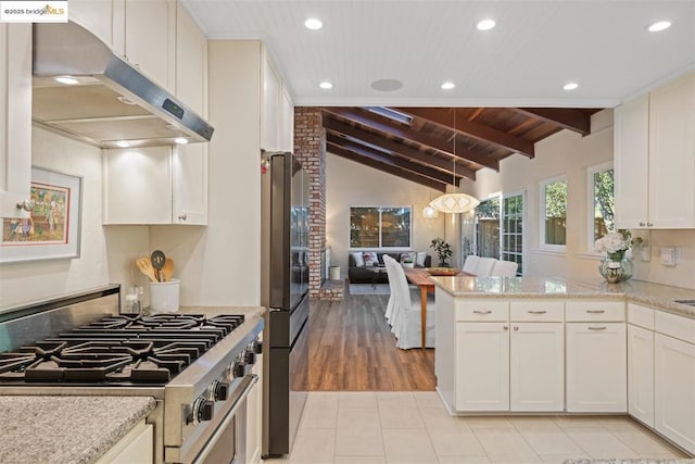
{"type": "Polygon", "coordinates": [[[0,394],[151,396],[156,462],[244,462],[257,315],[118,314],[118,286],[0,313],[0,394]]]}

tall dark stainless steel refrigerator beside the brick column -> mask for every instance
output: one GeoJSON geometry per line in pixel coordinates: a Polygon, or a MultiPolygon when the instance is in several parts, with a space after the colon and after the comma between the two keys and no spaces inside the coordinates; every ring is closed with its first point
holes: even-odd
{"type": "Polygon", "coordinates": [[[291,153],[263,153],[263,452],[287,454],[308,377],[308,179],[291,153]]]}

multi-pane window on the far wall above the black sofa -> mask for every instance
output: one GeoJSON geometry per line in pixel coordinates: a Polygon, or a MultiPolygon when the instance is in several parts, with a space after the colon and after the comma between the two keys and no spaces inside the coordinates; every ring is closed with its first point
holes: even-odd
{"type": "Polygon", "coordinates": [[[410,208],[350,209],[351,248],[410,248],[410,208]]]}

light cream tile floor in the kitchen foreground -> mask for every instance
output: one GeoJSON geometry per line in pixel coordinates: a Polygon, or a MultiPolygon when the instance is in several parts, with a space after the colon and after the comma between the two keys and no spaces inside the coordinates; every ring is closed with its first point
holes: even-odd
{"type": "Polygon", "coordinates": [[[451,417],[433,391],[312,391],[292,453],[268,464],[561,463],[684,457],[628,417],[451,417]]]}

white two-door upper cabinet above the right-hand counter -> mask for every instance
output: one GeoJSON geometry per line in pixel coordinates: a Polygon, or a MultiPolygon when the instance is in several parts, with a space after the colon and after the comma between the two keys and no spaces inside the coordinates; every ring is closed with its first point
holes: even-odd
{"type": "Polygon", "coordinates": [[[616,225],[695,228],[695,74],[615,113],[616,225]]]}

